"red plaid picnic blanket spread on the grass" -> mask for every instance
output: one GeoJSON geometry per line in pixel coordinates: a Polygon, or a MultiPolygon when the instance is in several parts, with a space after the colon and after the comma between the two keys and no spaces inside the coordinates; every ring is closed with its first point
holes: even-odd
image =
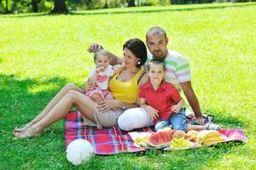
{"type": "MultiPolygon", "coordinates": [[[[153,132],[150,127],[137,129],[137,132],[153,132]]],[[[218,133],[226,138],[224,142],[240,141],[247,142],[242,129],[221,129],[218,133]]],[[[137,152],[146,150],[137,147],[128,132],[121,130],[118,126],[97,129],[84,125],[83,116],[79,111],[67,114],[65,125],[66,148],[75,139],[86,139],[94,146],[97,155],[113,155],[119,152],[137,152]]],[[[198,146],[195,146],[198,147],[198,146]]],[[[163,150],[169,150],[163,148],[163,150]]]]}

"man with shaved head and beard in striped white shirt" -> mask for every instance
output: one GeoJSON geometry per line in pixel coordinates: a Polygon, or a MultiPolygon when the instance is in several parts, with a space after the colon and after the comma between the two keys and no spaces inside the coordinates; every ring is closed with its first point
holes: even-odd
{"type": "MultiPolygon", "coordinates": [[[[146,42],[148,46],[148,59],[163,59],[167,67],[166,82],[172,83],[179,91],[181,88],[183,94],[189,101],[189,105],[195,113],[195,121],[199,124],[204,124],[204,118],[201,114],[200,105],[196,98],[194,89],[191,85],[191,76],[189,70],[189,61],[175,51],[167,49],[168,37],[166,31],[155,26],[149,29],[146,35],[146,42]]],[[[88,51],[95,53],[99,48],[102,48],[97,43],[93,43],[88,51]]],[[[123,60],[116,55],[111,54],[111,65],[121,64],[123,60]]]]}

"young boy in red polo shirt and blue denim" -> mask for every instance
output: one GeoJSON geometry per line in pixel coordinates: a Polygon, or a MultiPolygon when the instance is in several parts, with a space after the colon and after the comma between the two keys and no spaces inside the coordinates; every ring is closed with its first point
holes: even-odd
{"type": "Polygon", "coordinates": [[[178,94],[177,88],[163,80],[166,67],[162,60],[152,59],[148,63],[149,82],[140,88],[140,106],[146,110],[155,123],[157,131],[165,127],[175,130],[218,130],[216,124],[191,125],[187,122],[183,109],[184,100],[178,94]]]}

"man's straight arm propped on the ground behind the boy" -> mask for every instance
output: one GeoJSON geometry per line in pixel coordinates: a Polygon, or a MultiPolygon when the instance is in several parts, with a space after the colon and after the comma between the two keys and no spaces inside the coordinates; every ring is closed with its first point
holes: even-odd
{"type": "Polygon", "coordinates": [[[186,98],[189,101],[189,105],[191,106],[192,110],[195,113],[196,120],[203,124],[204,119],[201,114],[200,105],[198,99],[196,98],[195,92],[191,86],[191,82],[180,82],[181,87],[183,88],[183,93],[185,94],[186,98]]]}

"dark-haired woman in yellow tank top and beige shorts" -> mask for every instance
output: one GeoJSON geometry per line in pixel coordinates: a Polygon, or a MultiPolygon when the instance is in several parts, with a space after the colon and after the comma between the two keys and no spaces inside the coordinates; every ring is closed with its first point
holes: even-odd
{"type": "Polygon", "coordinates": [[[95,122],[98,128],[117,124],[118,117],[126,110],[139,105],[138,88],[148,82],[142,65],[147,59],[147,48],[143,41],[133,38],[123,45],[124,69],[112,77],[109,90],[113,100],[104,100],[96,105],[84,91],[67,84],[49,102],[32,122],[15,129],[15,137],[23,139],[37,136],[45,127],[65,117],[74,105],[85,119],[95,122]]]}

